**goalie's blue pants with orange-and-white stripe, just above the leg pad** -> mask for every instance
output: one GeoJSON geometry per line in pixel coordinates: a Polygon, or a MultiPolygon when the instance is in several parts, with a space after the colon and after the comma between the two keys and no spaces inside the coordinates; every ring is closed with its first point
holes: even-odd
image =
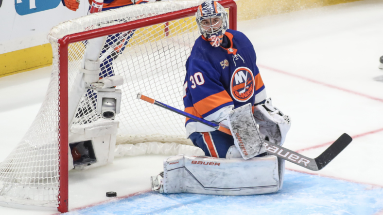
{"type": "Polygon", "coordinates": [[[234,145],[233,137],[221,131],[194,132],[189,138],[210,157],[226,158],[227,150],[234,145]]]}

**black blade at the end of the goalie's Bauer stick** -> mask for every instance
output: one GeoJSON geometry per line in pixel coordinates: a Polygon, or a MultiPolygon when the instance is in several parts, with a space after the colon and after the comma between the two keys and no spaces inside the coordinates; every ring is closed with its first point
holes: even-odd
{"type": "Polygon", "coordinates": [[[318,170],[323,169],[328,165],[332,159],[341,153],[348,144],[352,141],[352,138],[344,133],[334,143],[331,144],[322,154],[315,158],[315,163],[318,166],[318,170]]]}

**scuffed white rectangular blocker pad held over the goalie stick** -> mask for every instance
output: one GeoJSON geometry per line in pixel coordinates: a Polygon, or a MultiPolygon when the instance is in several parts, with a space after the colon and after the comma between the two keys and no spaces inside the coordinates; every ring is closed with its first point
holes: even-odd
{"type": "Polygon", "coordinates": [[[266,152],[250,103],[230,111],[227,121],[234,145],[245,160],[266,152]]]}

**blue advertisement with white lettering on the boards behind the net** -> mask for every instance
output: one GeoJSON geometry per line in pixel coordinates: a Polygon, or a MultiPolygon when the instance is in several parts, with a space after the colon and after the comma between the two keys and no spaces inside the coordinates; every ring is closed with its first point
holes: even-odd
{"type": "Polygon", "coordinates": [[[33,14],[57,7],[61,0],[15,0],[18,15],[33,14]]]}

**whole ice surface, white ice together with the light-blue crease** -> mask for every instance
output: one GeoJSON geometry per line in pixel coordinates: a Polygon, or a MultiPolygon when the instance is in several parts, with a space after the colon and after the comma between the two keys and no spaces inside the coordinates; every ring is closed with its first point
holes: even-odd
{"type": "MultiPolygon", "coordinates": [[[[310,174],[287,171],[276,194],[245,198],[145,193],[71,214],[383,214],[383,83],[373,80],[383,75],[378,69],[382,11],[382,0],[365,0],[238,23],[254,45],[268,96],[292,118],[286,148],[307,149],[301,154],[316,157],[326,146],[312,147],[344,132],[358,136],[326,168],[313,172],[286,162],[287,169],[310,174]],[[104,213],[105,208],[116,210],[104,213]]],[[[46,67],[0,78],[0,160],[35,118],[49,77],[46,67]]],[[[104,202],[107,191],[123,197],[148,190],[149,176],[159,173],[165,157],[123,157],[102,168],[71,171],[70,209],[104,202]]],[[[0,214],[52,212],[0,207],[0,214]]]]}

